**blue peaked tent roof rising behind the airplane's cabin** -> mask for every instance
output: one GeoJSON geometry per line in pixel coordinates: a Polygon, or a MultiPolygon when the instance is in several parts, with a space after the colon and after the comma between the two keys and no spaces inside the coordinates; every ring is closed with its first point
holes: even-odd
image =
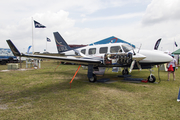
{"type": "Polygon", "coordinates": [[[117,37],[114,37],[114,36],[106,38],[106,39],[103,39],[103,40],[100,40],[100,41],[97,41],[95,43],[91,43],[91,44],[89,44],[89,46],[91,46],[91,45],[98,45],[98,44],[108,44],[108,43],[127,43],[127,44],[129,44],[129,45],[131,45],[132,47],[135,48],[135,45],[133,45],[131,43],[128,43],[128,42],[126,42],[124,40],[121,40],[121,39],[119,39],[117,37]]]}

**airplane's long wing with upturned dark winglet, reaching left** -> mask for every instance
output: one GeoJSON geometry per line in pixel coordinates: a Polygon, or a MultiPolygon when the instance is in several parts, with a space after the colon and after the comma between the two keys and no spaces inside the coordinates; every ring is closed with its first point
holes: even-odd
{"type": "Polygon", "coordinates": [[[14,56],[20,57],[31,57],[31,58],[40,58],[40,59],[53,59],[59,60],[63,62],[72,62],[78,64],[101,64],[101,60],[95,60],[90,58],[76,58],[76,57],[59,57],[59,56],[46,56],[46,55],[31,55],[31,54],[23,54],[20,53],[19,50],[15,47],[11,40],[6,40],[11,51],[13,52],[14,56]]]}

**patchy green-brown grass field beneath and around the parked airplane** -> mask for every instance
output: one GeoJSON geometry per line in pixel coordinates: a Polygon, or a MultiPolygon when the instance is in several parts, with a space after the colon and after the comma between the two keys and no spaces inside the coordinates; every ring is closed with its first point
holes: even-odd
{"type": "MultiPolygon", "coordinates": [[[[167,72],[160,72],[161,82],[131,83],[116,77],[121,73],[106,71],[104,78],[116,81],[89,83],[87,70],[79,70],[70,84],[77,65],[42,62],[42,68],[0,72],[0,119],[166,119],[180,118],[177,96],[180,70],[176,80],[167,81],[167,72]]],[[[23,65],[25,67],[25,65],[23,65]]],[[[1,65],[0,70],[7,69],[1,65]]],[[[158,79],[157,68],[153,74],[158,79]]],[[[131,75],[147,79],[149,70],[134,70],[131,75]]],[[[98,77],[101,78],[101,77],[98,77]]],[[[157,80],[159,82],[159,80],[157,80]]]]}

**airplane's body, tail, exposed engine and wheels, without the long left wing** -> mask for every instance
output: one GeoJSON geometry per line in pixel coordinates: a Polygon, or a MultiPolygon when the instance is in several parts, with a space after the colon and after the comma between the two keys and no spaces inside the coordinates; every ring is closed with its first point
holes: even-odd
{"type": "MultiPolygon", "coordinates": [[[[101,61],[102,64],[93,66],[93,76],[88,76],[90,82],[96,80],[96,74],[104,74],[106,67],[123,67],[122,74],[127,75],[132,69],[151,69],[154,65],[164,64],[172,60],[171,56],[162,51],[134,49],[126,43],[99,44],[73,50],[58,32],[54,32],[54,38],[58,53],[61,55],[80,55],[85,59],[101,61]],[[97,67],[100,72],[95,71],[97,67]],[[129,67],[130,70],[128,71],[129,67]]],[[[90,73],[88,72],[88,74],[90,73]]],[[[150,73],[148,81],[155,82],[155,80],[156,78],[150,73]]]]}

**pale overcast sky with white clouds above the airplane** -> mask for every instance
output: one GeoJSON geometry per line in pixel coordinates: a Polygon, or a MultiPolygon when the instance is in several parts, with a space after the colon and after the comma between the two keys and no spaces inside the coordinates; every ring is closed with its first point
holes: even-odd
{"type": "Polygon", "coordinates": [[[59,32],[68,44],[115,36],[148,50],[162,38],[159,50],[173,52],[180,46],[179,6],[179,0],[1,0],[0,48],[11,39],[25,53],[33,36],[34,51],[57,52],[53,32],[59,32]]]}

